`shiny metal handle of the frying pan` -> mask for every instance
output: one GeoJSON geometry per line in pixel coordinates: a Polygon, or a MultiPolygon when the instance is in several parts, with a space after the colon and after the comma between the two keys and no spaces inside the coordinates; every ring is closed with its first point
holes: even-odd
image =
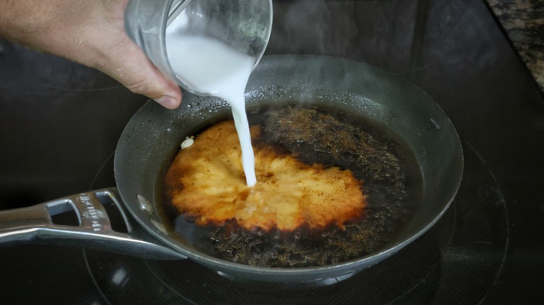
{"type": "Polygon", "coordinates": [[[0,243],[38,242],[156,260],[187,258],[153,237],[119,200],[116,188],[0,211],[0,243]]]}

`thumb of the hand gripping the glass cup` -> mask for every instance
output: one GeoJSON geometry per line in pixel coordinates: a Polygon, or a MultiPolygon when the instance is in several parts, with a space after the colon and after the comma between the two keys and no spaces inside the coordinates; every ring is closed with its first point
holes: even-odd
{"type": "Polygon", "coordinates": [[[181,104],[179,86],[165,77],[128,36],[116,43],[98,70],[119,81],[134,93],[146,95],[168,109],[181,104]]]}

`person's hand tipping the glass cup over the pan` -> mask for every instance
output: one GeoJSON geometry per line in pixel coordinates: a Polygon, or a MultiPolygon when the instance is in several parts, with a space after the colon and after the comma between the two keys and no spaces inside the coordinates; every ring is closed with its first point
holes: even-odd
{"type": "Polygon", "coordinates": [[[174,109],[181,103],[180,88],[126,35],[127,3],[0,0],[0,37],[96,68],[130,91],[174,109]]]}

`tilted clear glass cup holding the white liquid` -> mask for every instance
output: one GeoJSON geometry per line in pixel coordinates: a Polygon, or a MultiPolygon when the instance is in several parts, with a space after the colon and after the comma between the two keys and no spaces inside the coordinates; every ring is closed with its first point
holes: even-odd
{"type": "MultiPolygon", "coordinates": [[[[166,33],[217,40],[259,63],[272,27],[271,0],[130,0],[125,29],[153,64],[182,88],[203,95],[172,69],[166,33]]],[[[173,54],[171,56],[174,56],[173,54]]],[[[183,58],[190,61],[190,58],[183,58]]]]}

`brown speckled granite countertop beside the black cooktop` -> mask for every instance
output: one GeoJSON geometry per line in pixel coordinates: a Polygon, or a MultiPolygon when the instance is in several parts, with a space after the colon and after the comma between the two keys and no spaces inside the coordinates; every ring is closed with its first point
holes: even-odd
{"type": "Polygon", "coordinates": [[[485,0],[544,94],[544,0],[485,0]]]}

